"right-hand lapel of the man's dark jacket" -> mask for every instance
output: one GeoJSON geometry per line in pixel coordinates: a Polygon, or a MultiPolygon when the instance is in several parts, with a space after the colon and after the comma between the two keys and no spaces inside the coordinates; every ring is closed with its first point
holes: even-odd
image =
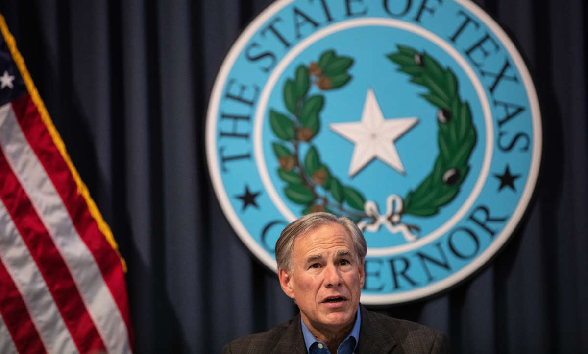
{"type": "Polygon", "coordinates": [[[362,325],[359,329],[359,343],[356,353],[390,353],[397,345],[397,340],[390,336],[390,332],[382,326],[375,323],[369,312],[359,305],[359,311],[362,315],[362,325]]]}

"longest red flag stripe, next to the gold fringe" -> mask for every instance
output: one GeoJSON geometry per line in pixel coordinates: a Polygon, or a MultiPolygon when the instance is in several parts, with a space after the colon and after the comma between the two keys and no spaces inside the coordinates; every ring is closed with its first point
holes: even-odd
{"type": "Polygon", "coordinates": [[[29,145],[35,151],[39,162],[45,168],[55,189],[64,201],[74,227],[95,258],[102,277],[121,312],[123,321],[125,321],[132,348],[131,315],[119,255],[112,249],[89,213],[88,205],[86,205],[83,196],[78,193],[74,177],[42,122],[31,97],[24,95],[14,100],[12,109],[29,145]]]}

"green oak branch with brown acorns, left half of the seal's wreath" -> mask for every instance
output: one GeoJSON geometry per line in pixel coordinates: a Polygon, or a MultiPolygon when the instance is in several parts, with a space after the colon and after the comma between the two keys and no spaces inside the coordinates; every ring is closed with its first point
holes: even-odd
{"type": "Polygon", "coordinates": [[[287,79],[283,86],[283,101],[288,113],[269,110],[270,127],[282,140],[272,143],[280,165],[278,176],[287,183],[286,197],[303,205],[303,214],[329,211],[348,215],[355,221],[366,217],[363,213],[365,197],[333,176],[310,142],[320,130],[320,112],[325,105],[325,96],[311,95],[311,87],[315,85],[325,92],[345,86],[351,79],[348,69],[352,65],[352,58],[338,56],[335,50],[323,52],[318,62],[311,62],[308,67],[299,65],[295,76],[287,79]],[[310,146],[300,159],[303,144],[310,146]]]}

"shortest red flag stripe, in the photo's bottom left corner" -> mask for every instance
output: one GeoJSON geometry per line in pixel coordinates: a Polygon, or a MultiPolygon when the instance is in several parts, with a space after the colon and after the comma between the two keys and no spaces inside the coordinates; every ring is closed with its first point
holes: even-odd
{"type": "Polygon", "coordinates": [[[0,313],[21,353],[45,353],[45,346],[31,319],[22,296],[0,259],[0,313]]]}

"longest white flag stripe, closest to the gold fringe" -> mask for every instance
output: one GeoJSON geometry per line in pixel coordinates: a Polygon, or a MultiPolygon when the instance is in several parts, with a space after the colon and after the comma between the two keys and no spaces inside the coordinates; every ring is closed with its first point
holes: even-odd
{"type": "Polygon", "coordinates": [[[6,160],[64,258],[106,349],[113,353],[131,352],[126,324],[98,264],[29,146],[10,104],[0,107],[0,127],[0,146],[5,151],[6,160]]]}

